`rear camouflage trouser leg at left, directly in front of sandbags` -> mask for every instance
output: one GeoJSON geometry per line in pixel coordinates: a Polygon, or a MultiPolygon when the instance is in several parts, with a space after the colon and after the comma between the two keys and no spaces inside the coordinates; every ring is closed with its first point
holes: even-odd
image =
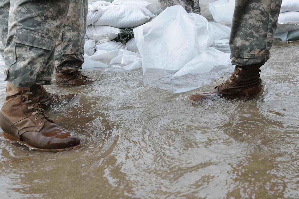
{"type": "Polygon", "coordinates": [[[56,73],[71,73],[82,68],[87,12],[88,0],[71,0],[62,32],[56,43],[56,73]]]}

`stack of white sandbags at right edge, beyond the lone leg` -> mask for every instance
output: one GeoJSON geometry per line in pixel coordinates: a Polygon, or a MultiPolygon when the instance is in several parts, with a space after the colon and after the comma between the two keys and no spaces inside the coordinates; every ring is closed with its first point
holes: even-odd
{"type": "Polygon", "coordinates": [[[283,0],[278,17],[277,32],[299,30],[299,1],[283,0]]]}

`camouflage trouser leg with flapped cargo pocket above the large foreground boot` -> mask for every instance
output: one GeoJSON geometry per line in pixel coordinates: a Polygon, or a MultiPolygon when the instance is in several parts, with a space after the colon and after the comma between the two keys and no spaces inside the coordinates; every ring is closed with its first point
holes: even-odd
{"type": "Polygon", "coordinates": [[[1,16],[2,14],[5,16],[1,17],[0,23],[9,25],[7,38],[3,36],[5,29],[3,26],[0,27],[1,43],[6,43],[3,52],[6,81],[18,87],[30,87],[35,83],[52,84],[54,47],[62,30],[70,1],[0,1],[1,16]],[[9,11],[7,7],[10,7],[9,11]]]}

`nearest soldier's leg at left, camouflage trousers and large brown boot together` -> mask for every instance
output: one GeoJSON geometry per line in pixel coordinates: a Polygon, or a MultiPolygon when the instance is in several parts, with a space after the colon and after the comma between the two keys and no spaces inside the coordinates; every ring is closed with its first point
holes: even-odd
{"type": "Polygon", "coordinates": [[[10,0],[0,127],[4,138],[29,149],[56,152],[80,146],[80,138],[56,125],[39,103],[41,84],[51,84],[53,50],[69,1],[10,0]]]}

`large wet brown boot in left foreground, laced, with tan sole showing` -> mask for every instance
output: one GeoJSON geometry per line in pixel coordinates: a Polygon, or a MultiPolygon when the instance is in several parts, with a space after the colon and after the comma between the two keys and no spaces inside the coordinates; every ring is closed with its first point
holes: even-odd
{"type": "Polygon", "coordinates": [[[7,83],[0,127],[5,139],[30,150],[58,152],[80,146],[77,135],[56,125],[40,108],[36,85],[20,88],[7,83]]]}

